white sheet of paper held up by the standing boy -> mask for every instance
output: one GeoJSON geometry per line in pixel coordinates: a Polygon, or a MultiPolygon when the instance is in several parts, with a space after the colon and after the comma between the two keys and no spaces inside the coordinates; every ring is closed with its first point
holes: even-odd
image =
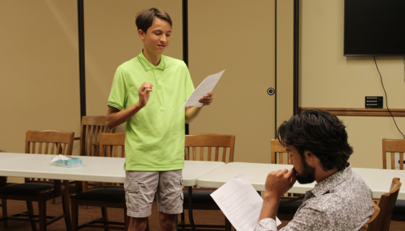
{"type": "MultiPolygon", "coordinates": [[[[203,80],[203,82],[201,82],[200,85],[198,85],[198,87],[189,96],[189,98],[183,104],[183,107],[189,107],[189,106],[201,107],[201,106],[203,106],[203,104],[198,102],[198,100],[200,100],[200,98],[203,98],[203,96],[207,96],[207,93],[211,92],[214,89],[216,83],[218,83],[218,80],[221,78],[221,76],[222,76],[222,74],[224,74],[224,72],[225,72],[225,70],[205,78],[205,80],[203,80]]],[[[183,109],[183,107],[180,108],[180,111],[181,111],[181,109],[183,109]]]]}

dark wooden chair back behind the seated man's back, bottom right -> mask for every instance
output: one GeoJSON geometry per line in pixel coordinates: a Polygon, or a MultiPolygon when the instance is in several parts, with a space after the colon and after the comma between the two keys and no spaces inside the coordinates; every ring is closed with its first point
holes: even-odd
{"type": "Polygon", "coordinates": [[[390,229],[391,217],[401,185],[399,178],[394,178],[390,192],[381,195],[380,203],[378,204],[380,206],[380,214],[377,217],[375,230],[388,231],[390,229]]]}

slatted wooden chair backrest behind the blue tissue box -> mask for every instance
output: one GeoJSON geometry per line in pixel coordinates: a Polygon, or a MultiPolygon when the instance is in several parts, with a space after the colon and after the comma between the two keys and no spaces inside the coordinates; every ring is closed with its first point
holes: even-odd
{"type": "MultiPolygon", "coordinates": [[[[25,133],[25,153],[72,155],[73,140],[74,132],[27,131],[25,133]],[[37,143],[39,143],[38,148],[37,143]]],[[[49,181],[49,179],[25,178],[25,182],[28,181],[49,181]]],[[[60,184],[60,181],[57,182],[60,184]]]]}

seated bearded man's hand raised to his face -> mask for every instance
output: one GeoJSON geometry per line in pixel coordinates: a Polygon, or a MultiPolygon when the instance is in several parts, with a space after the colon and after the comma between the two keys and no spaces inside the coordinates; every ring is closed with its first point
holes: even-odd
{"type": "Polygon", "coordinates": [[[280,199],[295,184],[297,172],[294,168],[283,169],[269,173],[264,187],[266,192],[264,197],[276,197],[280,199]]]}

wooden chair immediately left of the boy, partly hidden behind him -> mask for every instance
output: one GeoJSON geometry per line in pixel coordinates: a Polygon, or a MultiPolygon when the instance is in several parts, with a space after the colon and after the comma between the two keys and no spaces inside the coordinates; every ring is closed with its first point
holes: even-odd
{"type": "MultiPolygon", "coordinates": [[[[99,153],[102,157],[125,157],[125,133],[101,133],[99,153]]],[[[105,230],[127,230],[129,227],[123,184],[102,183],[101,188],[70,195],[70,199],[72,199],[73,231],[85,227],[105,230]],[[79,206],[101,207],[102,217],[79,226],[79,206]],[[107,208],[123,208],[124,222],[108,221],[107,208]]]]}

